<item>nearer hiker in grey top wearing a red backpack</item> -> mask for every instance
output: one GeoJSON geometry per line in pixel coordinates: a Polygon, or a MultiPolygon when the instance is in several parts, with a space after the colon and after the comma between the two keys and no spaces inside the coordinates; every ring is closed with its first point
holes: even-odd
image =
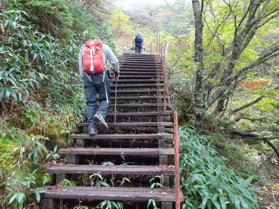
{"type": "Polygon", "coordinates": [[[86,41],[79,52],[79,73],[86,91],[86,115],[88,133],[98,134],[97,127],[108,131],[105,117],[110,103],[110,85],[106,60],[113,64],[114,79],[119,77],[119,63],[112,50],[100,40],[86,41]],[[97,108],[97,94],[100,102],[97,108]]]}

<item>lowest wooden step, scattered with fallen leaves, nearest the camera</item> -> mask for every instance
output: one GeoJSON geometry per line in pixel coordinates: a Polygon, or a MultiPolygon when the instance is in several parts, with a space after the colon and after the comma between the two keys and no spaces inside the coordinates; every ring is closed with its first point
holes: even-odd
{"type": "MultiPolygon", "coordinates": [[[[42,198],[54,199],[88,199],[88,200],[131,200],[148,201],[153,199],[160,202],[175,202],[173,188],[133,188],[133,187],[91,187],[91,186],[43,186],[39,190],[42,198]]],[[[36,194],[32,193],[36,198],[36,194]]],[[[180,191],[180,200],[183,194],[180,191]]]]}

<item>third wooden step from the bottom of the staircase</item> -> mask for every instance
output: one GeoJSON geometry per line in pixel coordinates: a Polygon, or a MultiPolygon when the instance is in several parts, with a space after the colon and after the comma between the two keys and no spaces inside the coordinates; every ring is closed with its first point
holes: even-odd
{"type": "Polygon", "coordinates": [[[68,148],[58,151],[59,154],[71,155],[174,155],[171,148],[68,148]]]}

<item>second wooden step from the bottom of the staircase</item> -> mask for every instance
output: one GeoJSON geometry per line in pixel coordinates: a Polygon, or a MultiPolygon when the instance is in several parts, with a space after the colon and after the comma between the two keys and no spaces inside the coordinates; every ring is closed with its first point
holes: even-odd
{"type": "Polygon", "coordinates": [[[174,175],[174,166],[169,165],[58,165],[47,168],[47,173],[99,173],[100,174],[123,174],[123,175],[174,175]]]}

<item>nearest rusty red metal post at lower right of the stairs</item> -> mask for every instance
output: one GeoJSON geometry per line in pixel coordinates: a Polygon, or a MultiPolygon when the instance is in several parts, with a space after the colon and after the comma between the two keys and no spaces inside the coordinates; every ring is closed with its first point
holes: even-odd
{"type": "Polygon", "coordinates": [[[173,137],[175,148],[175,209],[180,209],[180,176],[179,176],[179,145],[177,107],[173,109],[173,137]]]}

